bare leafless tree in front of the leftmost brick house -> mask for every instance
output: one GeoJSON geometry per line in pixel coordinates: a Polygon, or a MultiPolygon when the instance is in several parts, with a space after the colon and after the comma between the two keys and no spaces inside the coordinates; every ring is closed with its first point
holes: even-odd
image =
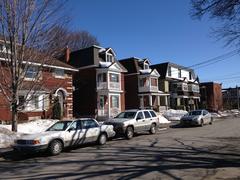
{"type": "MultiPolygon", "coordinates": [[[[64,0],[1,0],[0,1],[0,93],[11,109],[12,130],[17,131],[18,112],[41,89],[41,72],[53,59],[37,51],[53,38],[47,32],[59,25],[64,0]],[[35,68],[35,71],[29,71],[35,68]],[[28,72],[32,79],[26,82],[28,72]],[[26,95],[19,102],[19,91],[26,95]]],[[[58,32],[56,32],[58,33],[58,32]]],[[[52,52],[54,53],[54,52],[52,52]]]]}

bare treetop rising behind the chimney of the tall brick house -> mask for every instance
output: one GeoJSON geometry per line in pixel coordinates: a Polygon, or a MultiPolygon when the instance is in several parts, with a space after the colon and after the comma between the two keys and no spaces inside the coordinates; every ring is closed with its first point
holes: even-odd
{"type": "Polygon", "coordinates": [[[51,41],[51,44],[48,44],[48,47],[43,47],[43,49],[47,50],[54,57],[61,57],[66,47],[69,47],[71,51],[76,51],[92,45],[99,45],[97,38],[88,31],[70,31],[61,26],[49,31],[47,36],[53,38],[54,41],[51,41]],[[52,52],[49,52],[49,49],[52,52]],[[60,54],[55,54],[55,52],[60,52],[60,54]]]}

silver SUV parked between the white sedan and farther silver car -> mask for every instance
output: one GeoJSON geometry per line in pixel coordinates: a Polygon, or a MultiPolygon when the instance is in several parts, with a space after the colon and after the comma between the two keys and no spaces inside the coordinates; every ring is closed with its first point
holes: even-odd
{"type": "Polygon", "coordinates": [[[121,112],[105,124],[113,125],[116,135],[124,135],[127,139],[131,139],[137,132],[149,131],[150,134],[155,134],[159,118],[153,110],[133,109],[121,112]]]}

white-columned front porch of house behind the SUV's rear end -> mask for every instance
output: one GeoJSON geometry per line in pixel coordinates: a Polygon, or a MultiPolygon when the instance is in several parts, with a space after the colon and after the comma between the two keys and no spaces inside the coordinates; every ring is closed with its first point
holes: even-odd
{"type": "Polygon", "coordinates": [[[169,95],[162,93],[139,94],[140,108],[151,108],[156,112],[162,112],[169,107],[169,95]]]}

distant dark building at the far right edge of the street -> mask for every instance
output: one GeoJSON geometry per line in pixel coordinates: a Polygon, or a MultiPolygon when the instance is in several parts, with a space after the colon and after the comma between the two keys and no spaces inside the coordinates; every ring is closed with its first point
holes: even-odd
{"type": "Polygon", "coordinates": [[[224,109],[238,109],[240,101],[240,88],[226,88],[222,90],[224,109]]]}

